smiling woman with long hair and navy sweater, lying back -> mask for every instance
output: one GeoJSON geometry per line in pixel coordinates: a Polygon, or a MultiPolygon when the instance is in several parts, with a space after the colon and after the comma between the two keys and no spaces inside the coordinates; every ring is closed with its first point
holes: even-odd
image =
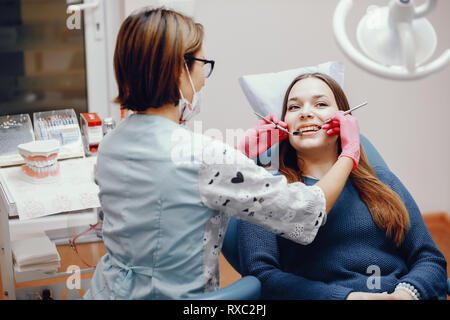
{"type": "MultiPolygon", "coordinates": [[[[348,109],[332,78],[297,77],[281,119],[302,134],[281,142],[279,173],[290,183],[320,180],[340,154],[340,138],[319,128],[348,109]]],[[[244,221],[238,231],[243,272],[261,281],[263,299],[446,298],[447,263],[419,208],[392,172],[369,165],[362,147],[313,243],[299,245],[244,221]]]]}

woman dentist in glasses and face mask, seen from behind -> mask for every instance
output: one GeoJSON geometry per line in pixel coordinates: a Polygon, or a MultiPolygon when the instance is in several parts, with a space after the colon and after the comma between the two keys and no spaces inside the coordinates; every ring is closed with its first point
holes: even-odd
{"type": "Polygon", "coordinates": [[[119,30],[116,100],[137,113],[98,152],[107,253],[85,299],[177,299],[216,290],[230,216],[310,243],[359,161],[351,116],[339,119],[340,159],[315,186],[288,184],[240,151],[180,126],[199,112],[214,65],[202,41],[200,24],[161,8],[130,15],[119,30]]]}

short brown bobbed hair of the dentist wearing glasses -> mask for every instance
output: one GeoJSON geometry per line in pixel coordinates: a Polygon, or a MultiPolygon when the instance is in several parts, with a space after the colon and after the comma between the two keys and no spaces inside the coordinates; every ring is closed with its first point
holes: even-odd
{"type": "Polygon", "coordinates": [[[200,50],[203,36],[201,24],[172,10],[131,14],[120,27],[114,52],[115,102],[134,111],[178,105],[184,55],[200,50]]]}

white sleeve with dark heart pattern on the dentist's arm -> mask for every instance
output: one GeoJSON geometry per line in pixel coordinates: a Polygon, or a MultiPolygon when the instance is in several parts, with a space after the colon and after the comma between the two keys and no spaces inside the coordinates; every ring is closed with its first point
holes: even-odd
{"type": "Polygon", "coordinates": [[[199,167],[203,203],[300,244],[311,243],[326,221],[326,200],[318,186],[287,183],[223,143],[205,149],[199,167]],[[214,154],[214,157],[208,155],[214,154]],[[218,155],[222,154],[222,158],[218,155]]]}

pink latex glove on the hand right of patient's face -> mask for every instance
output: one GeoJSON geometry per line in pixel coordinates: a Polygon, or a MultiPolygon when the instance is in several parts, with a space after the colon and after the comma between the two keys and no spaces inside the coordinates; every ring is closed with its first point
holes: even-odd
{"type": "Polygon", "coordinates": [[[331,115],[331,122],[324,124],[322,129],[328,135],[338,134],[341,136],[342,153],[340,157],[349,157],[353,160],[353,170],[358,167],[359,149],[359,126],[358,120],[350,114],[344,115],[344,111],[338,111],[331,115]]]}

